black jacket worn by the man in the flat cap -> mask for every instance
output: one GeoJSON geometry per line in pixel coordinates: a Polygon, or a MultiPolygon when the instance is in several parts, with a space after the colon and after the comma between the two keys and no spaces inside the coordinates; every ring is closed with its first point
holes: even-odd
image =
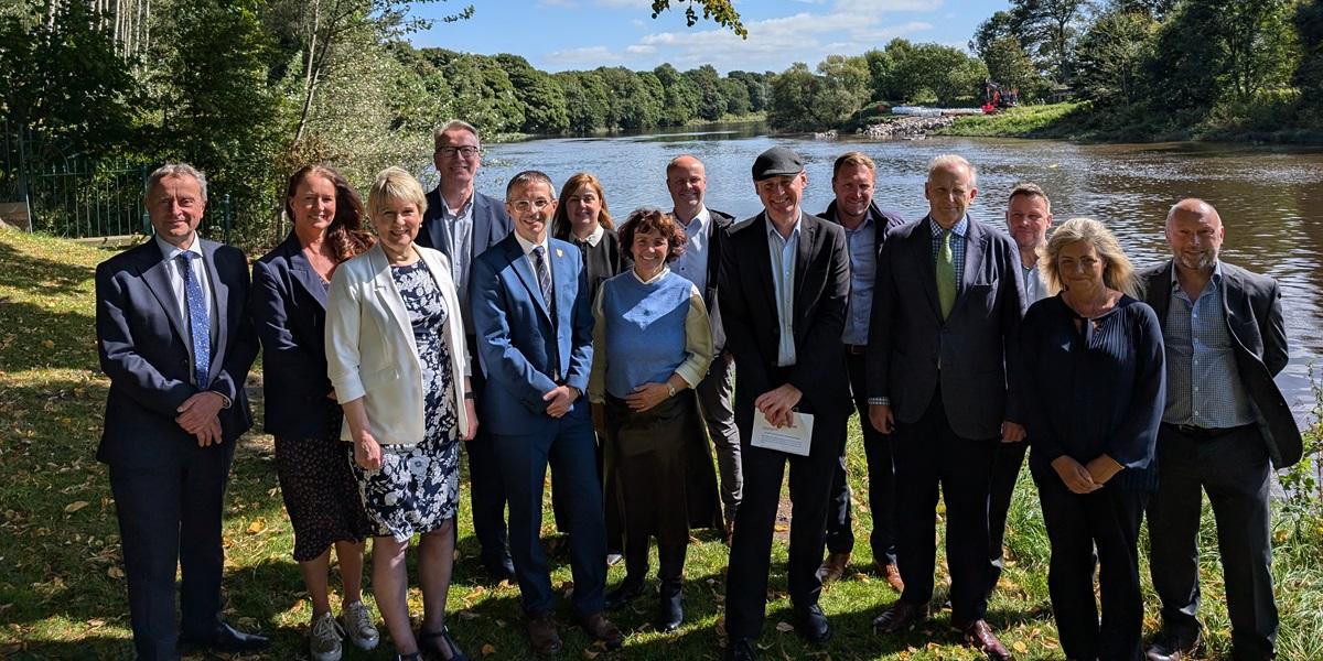
{"type": "Polygon", "coordinates": [[[721,250],[720,291],[726,346],[736,356],[736,416],[751,415],[758,395],[791,383],[812,412],[849,415],[853,403],[845,378],[840,333],[849,301],[849,253],[845,230],[800,212],[795,259],[795,365],[777,365],[781,323],[767,251],[766,212],[730,227],[721,250]]]}

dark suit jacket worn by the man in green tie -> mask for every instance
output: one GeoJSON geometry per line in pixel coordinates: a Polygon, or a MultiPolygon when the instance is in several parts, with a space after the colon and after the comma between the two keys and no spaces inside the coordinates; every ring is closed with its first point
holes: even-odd
{"type": "Polygon", "coordinates": [[[966,242],[963,279],[943,321],[929,217],[888,237],[873,288],[868,397],[889,398],[897,420],[916,423],[941,386],[951,430],[991,439],[1002,420],[1024,422],[1019,329],[1027,305],[1011,237],[970,218],[966,242]]]}

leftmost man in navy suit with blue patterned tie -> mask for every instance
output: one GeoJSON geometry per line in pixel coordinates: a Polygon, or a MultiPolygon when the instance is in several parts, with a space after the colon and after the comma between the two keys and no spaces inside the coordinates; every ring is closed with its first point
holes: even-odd
{"type": "Polygon", "coordinates": [[[234,443],[253,424],[247,262],[197,235],[206,178],[192,167],[153,172],[143,204],[155,237],[97,266],[97,345],[110,377],[97,459],[110,465],[134,645],[140,660],[179,658],[176,639],[261,650],[265,637],[220,617],[225,484],[234,443]]]}

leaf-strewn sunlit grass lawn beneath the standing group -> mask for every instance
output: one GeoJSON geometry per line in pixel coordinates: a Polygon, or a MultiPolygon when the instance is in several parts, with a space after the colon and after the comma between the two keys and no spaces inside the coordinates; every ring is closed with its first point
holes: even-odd
{"type": "MultiPolygon", "coordinates": [[[[131,657],[120,549],[106,468],[94,459],[107,381],[97,366],[93,270],[110,254],[62,239],[0,230],[0,658],[131,657]]],[[[261,378],[254,370],[250,385],[261,378]]],[[[258,408],[261,412],[261,408],[258,408]]],[[[896,595],[867,572],[864,543],[869,526],[864,457],[856,438],[849,469],[856,485],[856,545],[847,579],[823,591],[833,637],[822,649],[778,629],[789,621],[786,545],[773,545],[771,599],[759,641],[766,658],[818,660],[975,660],[947,628],[949,612],[901,637],[872,633],[871,620],[896,595]]],[[[1278,508],[1274,516],[1278,604],[1282,611],[1281,658],[1323,658],[1323,516],[1316,501],[1278,508]]],[[[562,546],[550,533],[548,543],[562,546]]],[[[519,592],[487,582],[475,559],[472,526],[460,520],[456,582],[450,623],[459,644],[475,658],[525,658],[519,592]]],[[[1008,524],[1011,566],[990,607],[990,620],[1019,658],[1061,658],[1046,594],[1048,546],[1033,485],[1021,473],[1008,524]]],[[[1201,575],[1203,617],[1209,653],[1229,654],[1221,570],[1212,521],[1205,512],[1201,575]]],[[[225,517],[228,595],[225,613],[247,629],[274,637],[267,658],[303,654],[311,615],[298,566],[290,558],[292,537],[275,480],[271,439],[250,434],[241,440],[225,517]]],[[[1146,541],[1143,542],[1146,543],[1146,541]]],[[[568,561],[553,553],[553,583],[570,586],[568,561]]],[[[652,603],[617,616],[630,633],[623,652],[606,654],[577,629],[565,628],[561,658],[721,658],[726,547],[703,531],[685,567],[685,627],[672,635],[648,625],[652,603]]],[[[614,567],[610,583],[623,578],[614,567]]],[[[945,596],[939,570],[935,603],[945,596]]],[[[1158,603],[1147,582],[1146,629],[1156,628],[1158,603]]],[[[370,603],[370,596],[369,596],[370,603]]],[[[564,602],[562,602],[564,603],[564,602]]],[[[421,612],[417,591],[414,612],[421,612]]],[[[562,612],[562,615],[566,615],[562,612]]],[[[349,649],[347,660],[385,660],[389,641],[372,653],[349,649]]],[[[206,657],[197,657],[206,658],[206,657]]]]}

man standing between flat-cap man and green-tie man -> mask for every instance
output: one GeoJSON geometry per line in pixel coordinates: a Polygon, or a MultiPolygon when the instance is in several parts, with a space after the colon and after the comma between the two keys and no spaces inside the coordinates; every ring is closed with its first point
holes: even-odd
{"type": "MultiPolygon", "coordinates": [[[[896,469],[892,464],[892,439],[868,423],[868,324],[873,309],[877,258],[881,255],[886,233],[905,225],[901,214],[882,210],[873,201],[877,165],[863,152],[845,152],[832,164],[831,188],[836,198],[827,205],[820,218],[845,229],[845,249],[849,253],[849,308],[845,312],[845,330],[841,349],[849,374],[849,393],[859,411],[864,432],[864,457],[868,464],[868,509],[873,514],[869,545],[873,549],[873,571],[886,579],[897,592],[905,590],[901,572],[896,567],[896,469]]],[[[827,558],[818,568],[823,583],[836,580],[845,572],[855,549],[851,516],[851,490],[845,475],[845,440],[849,434],[841,428],[840,459],[832,477],[831,504],[827,509],[827,558]]]]}

